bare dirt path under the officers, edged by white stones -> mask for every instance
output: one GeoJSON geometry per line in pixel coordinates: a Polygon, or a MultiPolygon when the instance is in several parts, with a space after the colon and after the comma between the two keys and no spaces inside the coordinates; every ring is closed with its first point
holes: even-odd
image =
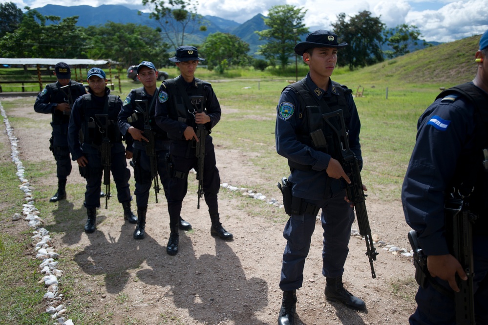
{"type": "MultiPolygon", "coordinates": [[[[33,118],[39,125],[38,128],[16,125],[22,159],[45,161],[54,166],[54,158],[47,148],[50,116],[36,114],[32,107],[19,107],[9,114],[33,118]]],[[[253,188],[262,182],[259,177],[262,171],[253,170],[247,161],[248,153],[216,148],[216,155],[222,183],[247,184],[253,188]]],[[[68,183],[82,188],[84,182],[73,163],[68,183]]],[[[49,195],[54,194],[54,167],[52,177],[33,185],[51,187],[49,195]]],[[[279,197],[277,192],[265,195],[279,197]]],[[[67,200],[53,204],[52,213],[42,216],[49,223],[46,228],[59,234],[54,236],[56,250],[72,256],[74,261],[67,262],[64,270],[65,278],[76,278],[78,290],[67,293],[72,297],[64,302],[68,304],[68,317],[69,309],[81,303],[90,305],[88,314],[98,313],[101,318],[110,319],[108,324],[129,324],[128,320],[134,321],[130,324],[276,324],[282,297],[278,282],[285,222],[248,215],[242,206],[251,198],[230,195],[222,189],[221,221],[234,239],[230,242],[215,239],[210,235],[205,203],[202,201],[201,209],[197,210],[196,195],[189,191],[182,216],[191,222],[193,230],[180,232],[179,252],[169,256],[166,254],[167,205],[162,193],[159,197],[158,204],[149,205],[147,237],[143,240],[132,238],[134,225],[124,222],[115,197],[109,201],[109,209],[104,209],[102,204],[98,210],[98,229],[93,234],[86,235],[83,231],[83,197],[68,193],[67,200]]],[[[409,249],[406,239],[409,227],[400,201],[383,203],[368,197],[366,204],[373,233],[387,243],[409,249]]],[[[259,209],[276,208],[263,203],[259,209]]],[[[282,210],[276,213],[284,215],[282,210]]],[[[357,224],[353,227],[357,229],[357,224]]],[[[296,324],[407,324],[415,308],[416,285],[411,260],[377,247],[380,252],[374,263],[377,278],[372,279],[364,255],[364,240],[351,237],[349,248],[343,280],[349,291],[365,301],[367,310],[358,312],[325,300],[325,278],[321,274],[322,229],[318,221],[305,264],[303,287],[297,292],[296,324]]]]}

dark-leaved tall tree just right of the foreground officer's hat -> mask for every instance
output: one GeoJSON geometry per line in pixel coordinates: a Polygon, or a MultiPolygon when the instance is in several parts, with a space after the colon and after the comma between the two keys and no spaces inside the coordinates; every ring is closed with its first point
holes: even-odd
{"type": "Polygon", "coordinates": [[[349,65],[353,69],[383,61],[384,23],[379,17],[372,17],[369,11],[364,10],[348,21],[344,13],[340,13],[337,19],[332,23],[334,32],[340,42],[349,44],[340,50],[338,65],[349,65]]]}

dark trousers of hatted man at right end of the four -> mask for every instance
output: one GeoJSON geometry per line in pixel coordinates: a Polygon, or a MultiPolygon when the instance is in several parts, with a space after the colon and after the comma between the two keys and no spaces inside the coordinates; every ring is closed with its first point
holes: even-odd
{"type": "MultiPolygon", "coordinates": [[[[171,161],[176,171],[188,173],[190,172],[191,168],[196,170],[198,159],[196,157],[185,158],[182,156],[172,155],[171,161]]],[[[213,144],[207,142],[205,146],[205,160],[203,166],[203,195],[211,216],[218,213],[217,194],[220,189],[220,175],[215,164],[216,161],[213,144]]],[[[170,214],[170,225],[176,224],[177,220],[179,220],[181,203],[187,194],[187,190],[188,175],[185,178],[170,178],[168,193],[168,213],[170,214]]]]}

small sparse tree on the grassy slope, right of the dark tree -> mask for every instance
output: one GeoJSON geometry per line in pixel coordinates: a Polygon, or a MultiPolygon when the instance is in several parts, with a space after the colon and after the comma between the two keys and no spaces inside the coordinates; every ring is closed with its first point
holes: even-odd
{"type": "Polygon", "coordinates": [[[384,51],[388,58],[410,53],[409,46],[419,45],[428,46],[424,40],[420,40],[420,30],[415,25],[401,24],[394,28],[386,29],[383,32],[385,42],[393,50],[384,51]]]}

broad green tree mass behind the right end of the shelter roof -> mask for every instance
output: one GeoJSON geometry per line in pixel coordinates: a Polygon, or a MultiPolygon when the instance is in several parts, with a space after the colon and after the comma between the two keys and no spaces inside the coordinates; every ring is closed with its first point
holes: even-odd
{"type": "Polygon", "coordinates": [[[104,26],[88,26],[85,34],[86,56],[90,59],[112,59],[125,65],[143,60],[162,66],[168,60],[168,44],[159,30],[134,23],[107,22],[104,26]]]}

